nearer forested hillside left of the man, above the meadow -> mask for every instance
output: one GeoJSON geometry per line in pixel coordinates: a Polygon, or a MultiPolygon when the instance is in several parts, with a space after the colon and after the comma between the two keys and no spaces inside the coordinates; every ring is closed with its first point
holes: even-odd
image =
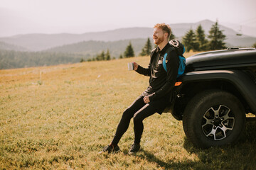
{"type": "MultiPolygon", "coordinates": [[[[96,55],[100,54],[102,50],[107,52],[107,49],[110,50],[111,58],[119,58],[119,55],[124,54],[129,42],[132,42],[135,54],[139,55],[139,52],[141,52],[142,47],[146,43],[146,39],[131,41],[120,40],[117,42],[79,42],[77,44],[63,45],[62,47],[56,47],[54,49],[41,52],[21,52],[11,49],[0,49],[0,69],[39,67],[75,63],[80,62],[81,60],[86,61],[88,59],[92,59],[92,57],[96,57],[96,55]]],[[[153,44],[152,47],[154,47],[153,44]]]]}

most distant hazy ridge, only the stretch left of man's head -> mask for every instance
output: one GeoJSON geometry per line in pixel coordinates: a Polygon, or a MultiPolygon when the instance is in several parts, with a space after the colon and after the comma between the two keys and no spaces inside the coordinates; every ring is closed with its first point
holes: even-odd
{"type": "Polygon", "coordinates": [[[46,50],[51,47],[73,44],[76,42],[100,40],[117,41],[151,37],[152,28],[122,28],[97,33],[84,34],[28,34],[0,38],[0,41],[26,47],[32,51],[46,50]]]}

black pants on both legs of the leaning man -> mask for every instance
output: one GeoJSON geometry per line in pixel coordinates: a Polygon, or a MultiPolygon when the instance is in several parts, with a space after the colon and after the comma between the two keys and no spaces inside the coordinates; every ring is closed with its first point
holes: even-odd
{"type": "Polygon", "coordinates": [[[156,101],[144,103],[143,96],[139,96],[129,108],[127,108],[117,126],[117,132],[112,140],[112,145],[117,145],[124,132],[129,127],[130,120],[134,121],[134,143],[139,144],[144,129],[142,121],[154,113],[162,113],[169,103],[169,95],[156,101]]]}

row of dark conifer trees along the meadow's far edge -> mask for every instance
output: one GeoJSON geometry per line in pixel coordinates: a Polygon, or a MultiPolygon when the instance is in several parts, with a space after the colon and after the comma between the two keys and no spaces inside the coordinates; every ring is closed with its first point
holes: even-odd
{"type": "MultiPolygon", "coordinates": [[[[223,30],[220,30],[218,26],[218,21],[216,21],[215,24],[210,28],[208,36],[206,36],[205,31],[203,30],[202,26],[199,25],[196,30],[188,30],[186,35],[182,38],[182,43],[186,47],[186,52],[189,52],[190,50],[193,51],[207,51],[207,50],[222,50],[227,48],[225,46],[225,35],[223,34],[223,30]]],[[[171,33],[169,40],[175,39],[175,35],[171,33]]],[[[150,55],[152,50],[151,41],[148,38],[146,40],[146,44],[142,48],[142,51],[139,53],[139,56],[148,56],[150,55]]],[[[127,57],[135,57],[134,50],[132,47],[132,43],[129,42],[129,45],[127,45],[126,50],[124,51],[124,54],[119,55],[119,58],[127,58],[127,57]]],[[[114,59],[114,57],[113,57],[114,59]]],[[[107,50],[105,53],[102,51],[100,54],[97,54],[96,57],[93,57],[92,59],[89,59],[87,61],[100,61],[100,60],[111,60],[110,57],[110,51],[107,50]]],[[[81,60],[82,62],[84,60],[81,60]]]]}

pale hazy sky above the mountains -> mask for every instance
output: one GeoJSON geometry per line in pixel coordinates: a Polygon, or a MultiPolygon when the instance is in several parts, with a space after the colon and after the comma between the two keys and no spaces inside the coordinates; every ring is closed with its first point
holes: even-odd
{"type": "Polygon", "coordinates": [[[217,18],[256,28],[255,6],[256,0],[0,0],[0,23],[11,23],[9,34],[17,23],[16,33],[85,33],[217,18]]]}

